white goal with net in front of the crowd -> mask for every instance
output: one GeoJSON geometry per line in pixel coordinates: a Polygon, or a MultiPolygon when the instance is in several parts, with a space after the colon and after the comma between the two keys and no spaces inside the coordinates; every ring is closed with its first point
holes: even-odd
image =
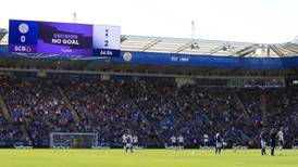
{"type": "Polygon", "coordinates": [[[98,145],[98,133],[92,132],[51,132],[50,147],[92,149],[98,145]]]}

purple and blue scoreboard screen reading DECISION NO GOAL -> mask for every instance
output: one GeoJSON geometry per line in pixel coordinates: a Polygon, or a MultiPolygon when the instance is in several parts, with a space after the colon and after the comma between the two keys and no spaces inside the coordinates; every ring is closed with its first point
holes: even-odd
{"type": "Polygon", "coordinates": [[[120,56],[119,26],[10,20],[9,52],[120,56]]]}

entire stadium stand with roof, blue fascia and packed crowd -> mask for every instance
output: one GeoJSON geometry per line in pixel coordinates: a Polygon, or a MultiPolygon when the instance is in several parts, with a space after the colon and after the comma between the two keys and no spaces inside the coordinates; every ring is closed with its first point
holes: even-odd
{"type": "Polygon", "coordinates": [[[229,146],[257,147],[263,127],[284,127],[286,146],[297,143],[298,91],[286,86],[298,80],[296,40],[122,35],[120,56],[78,59],[10,53],[8,39],[0,29],[2,145],[48,147],[51,132],[91,132],[100,145],[120,146],[129,129],[148,147],[173,134],[198,147],[204,133],[214,145],[219,131],[229,146]]]}

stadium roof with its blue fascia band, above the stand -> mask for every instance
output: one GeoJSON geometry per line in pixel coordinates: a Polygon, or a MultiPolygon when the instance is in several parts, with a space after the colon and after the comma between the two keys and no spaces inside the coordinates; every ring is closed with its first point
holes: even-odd
{"type": "Polygon", "coordinates": [[[263,44],[249,42],[121,36],[121,56],[79,57],[8,53],[9,33],[0,34],[2,68],[77,69],[132,75],[186,77],[294,77],[297,41],[263,44]],[[40,64],[40,65],[39,65],[40,64]],[[112,68],[111,68],[112,67],[112,68]]]}

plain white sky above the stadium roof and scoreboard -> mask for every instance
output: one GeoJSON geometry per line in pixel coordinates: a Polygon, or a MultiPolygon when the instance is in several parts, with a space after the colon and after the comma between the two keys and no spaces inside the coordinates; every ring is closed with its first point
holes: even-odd
{"type": "Polygon", "coordinates": [[[3,0],[9,20],[119,25],[122,35],[258,43],[298,37],[298,0],[3,0]]]}

